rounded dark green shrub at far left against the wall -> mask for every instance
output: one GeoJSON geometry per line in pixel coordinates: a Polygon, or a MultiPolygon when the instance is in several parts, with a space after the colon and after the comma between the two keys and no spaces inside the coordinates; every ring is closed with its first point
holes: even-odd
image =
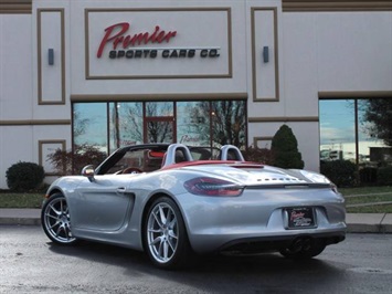
{"type": "Polygon", "coordinates": [[[45,178],[42,166],[33,162],[12,165],[6,172],[7,185],[13,191],[30,191],[39,188],[45,178]]]}

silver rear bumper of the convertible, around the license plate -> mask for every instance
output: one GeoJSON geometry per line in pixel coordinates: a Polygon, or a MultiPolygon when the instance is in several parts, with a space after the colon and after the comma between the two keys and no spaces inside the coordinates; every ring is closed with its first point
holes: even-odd
{"type": "Polygon", "coordinates": [[[306,192],[301,191],[301,198],[293,191],[284,197],[276,193],[274,199],[271,191],[266,197],[245,195],[224,204],[219,199],[192,199],[191,206],[183,203],[190,243],[195,252],[208,253],[248,243],[261,250],[280,249],[299,237],[322,239],[327,245],[345,240],[345,203],[331,191],[306,192]],[[293,229],[287,208],[300,207],[312,209],[315,223],[293,229]]]}

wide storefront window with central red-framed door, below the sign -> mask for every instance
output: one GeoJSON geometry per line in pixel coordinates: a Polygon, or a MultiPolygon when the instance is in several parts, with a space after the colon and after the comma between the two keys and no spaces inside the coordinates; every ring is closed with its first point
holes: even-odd
{"type": "Polygon", "coordinates": [[[245,101],[73,104],[74,144],[105,153],[142,143],[246,146],[245,101]]]}

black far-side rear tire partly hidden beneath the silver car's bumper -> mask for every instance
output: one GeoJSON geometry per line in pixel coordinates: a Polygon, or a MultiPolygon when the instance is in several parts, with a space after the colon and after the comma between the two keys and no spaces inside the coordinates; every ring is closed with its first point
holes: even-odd
{"type": "Polygon", "coordinates": [[[280,254],[293,260],[308,260],[317,256],[326,249],[324,240],[298,238],[289,248],[279,250],[280,254]]]}

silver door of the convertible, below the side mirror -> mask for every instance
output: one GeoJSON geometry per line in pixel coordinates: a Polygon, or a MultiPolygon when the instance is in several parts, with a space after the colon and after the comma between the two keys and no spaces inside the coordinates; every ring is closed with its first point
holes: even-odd
{"type": "Polygon", "coordinates": [[[117,231],[125,223],[134,206],[133,193],[127,191],[130,175],[87,177],[74,191],[72,225],[91,231],[117,231]]]}

